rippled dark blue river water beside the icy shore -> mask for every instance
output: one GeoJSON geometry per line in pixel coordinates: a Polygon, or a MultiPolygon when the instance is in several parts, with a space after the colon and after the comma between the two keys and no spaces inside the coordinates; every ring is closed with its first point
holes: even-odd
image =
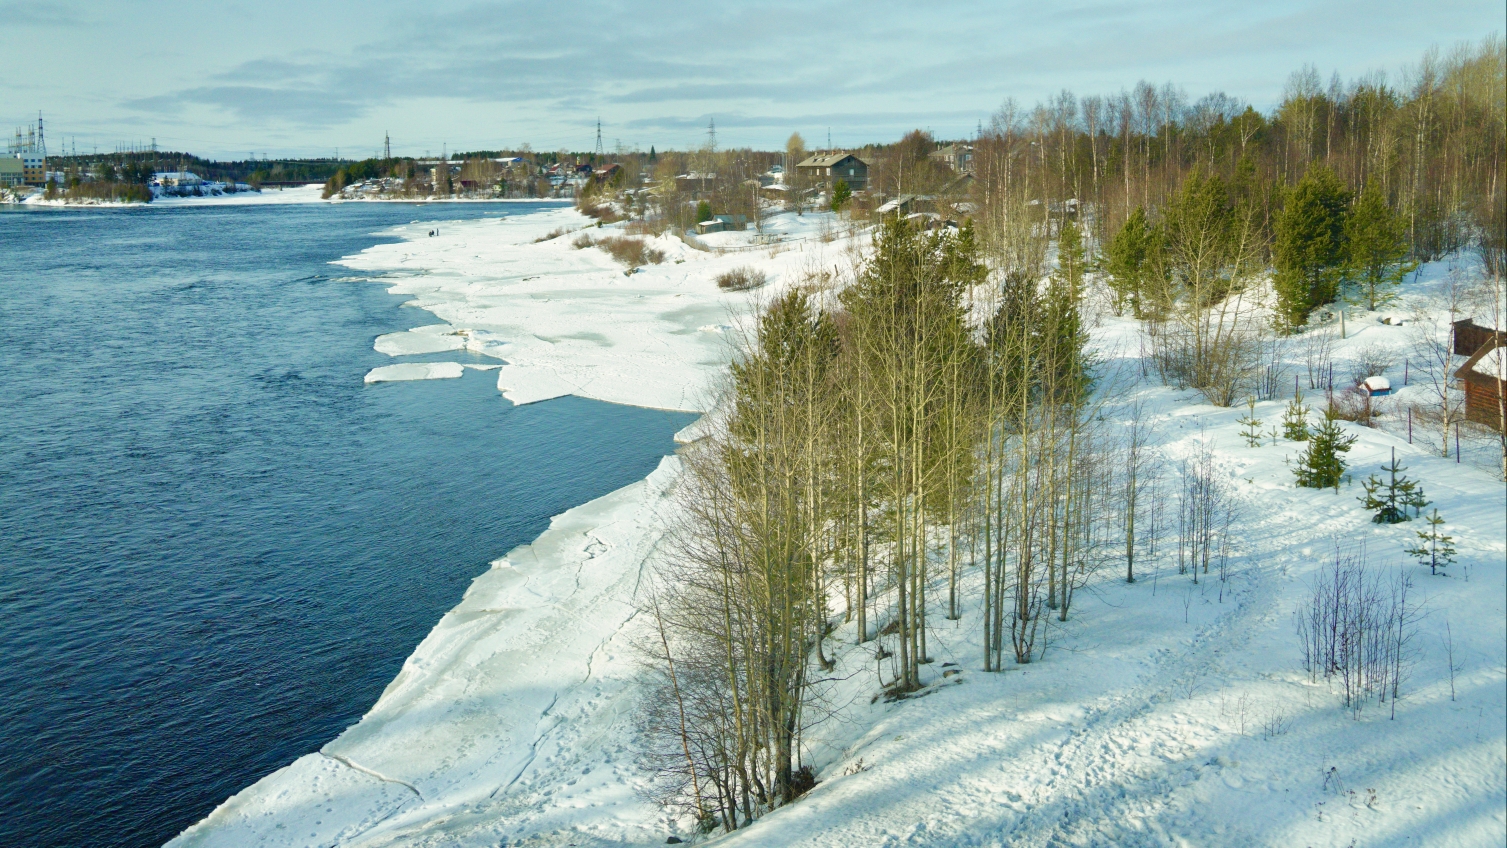
{"type": "Polygon", "coordinates": [[[527,211],[0,212],[0,845],[170,839],[672,450],[690,416],[362,384],[375,336],[434,318],[329,261],[527,211]]]}

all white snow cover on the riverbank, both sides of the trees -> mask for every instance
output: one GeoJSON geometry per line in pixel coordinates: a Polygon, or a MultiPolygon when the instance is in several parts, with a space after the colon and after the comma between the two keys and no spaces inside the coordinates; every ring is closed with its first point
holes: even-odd
{"type": "MultiPolygon", "coordinates": [[[[830,215],[779,217],[769,227],[782,239],[775,244],[714,233],[699,239],[708,252],[659,238],[665,262],[633,274],[601,250],[573,249],[579,233],[535,241],[588,224],[570,209],[448,223],[437,236],[420,223],[399,229],[398,244],[347,258],[443,322],[378,337],[395,363],[366,380],[455,377],[461,363],[402,357],[467,349],[499,360],[499,389],[520,404],[580,395],[705,411],[752,307],[845,264],[864,241],[841,238],[830,215]],[[763,268],[772,283],[719,291],[714,276],[740,265],[763,268]]],[[[1389,313],[1436,300],[1450,273],[1424,268],[1408,286],[1412,303],[1389,313]]],[[[1352,321],[1335,343],[1337,374],[1374,345],[1402,361],[1409,327],[1352,321]]],[[[1115,318],[1094,328],[1114,398],[1108,426],[1139,399],[1169,465],[1201,441],[1213,446],[1237,493],[1228,581],[1195,586],[1163,556],[1126,584],[1109,565],[1067,622],[1052,619],[1043,660],[1002,673],[981,670],[977,610],[964,607],[958,622],[936,615],[927,687],[894,703],[874,699],[873,648],[841,648],[853,633],[839,628],[829,655],[839,664],[832,676],[845,679],[821,693],[830,714],[805,734],[818,786],[719,843],[1502,845],[1507,499],[1489,446],[1471,443],[1456,462],[1421,431],[1409,444],[1395,419],[1344,425],[1359,438],[1352,476],[1364,479],[1395,449],[1459,548],[1448,577],[1406,566],[1424,615],[1397,717],[1371,705],[1355,718],[1304,673],[1295,612],[1335,539],[1364,541],[1373,566],[1395,569],[1423,523],[1371,524],[1358,483],[1338,494],[1295,488],[1287,462],[1299,446],[1248,447],[1236,420],[1243,407],[1216,408],[1142,380],[1138,331],[1115,318]]],[[[1402,384],[1402,374],[1388,375],[1402,384]]],[[[1311,402],[1322,404],[1319,395],[1311,402]]],[[[1282,405],[1263,402],[1255,414],[1270,426],[1282,405]]],[[[533,544],[494,562],[359,724],[172,845],[689,839],[684,822],[645,800],[633,756],[634,593],[677,470],[665,459],[647,480],[556,517],[533,544]]]]}

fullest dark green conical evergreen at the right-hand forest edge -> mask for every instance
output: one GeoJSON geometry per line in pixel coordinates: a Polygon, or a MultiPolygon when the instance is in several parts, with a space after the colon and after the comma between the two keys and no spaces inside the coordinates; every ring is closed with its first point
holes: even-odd
{"type": "Polygon", "coordinates": [[[1278,322],[1287,330],[1340,294],[1347,202],[1344,184],[1325,166],[1308,169],[1287,196],[1272,246],[1278,322]]]}

